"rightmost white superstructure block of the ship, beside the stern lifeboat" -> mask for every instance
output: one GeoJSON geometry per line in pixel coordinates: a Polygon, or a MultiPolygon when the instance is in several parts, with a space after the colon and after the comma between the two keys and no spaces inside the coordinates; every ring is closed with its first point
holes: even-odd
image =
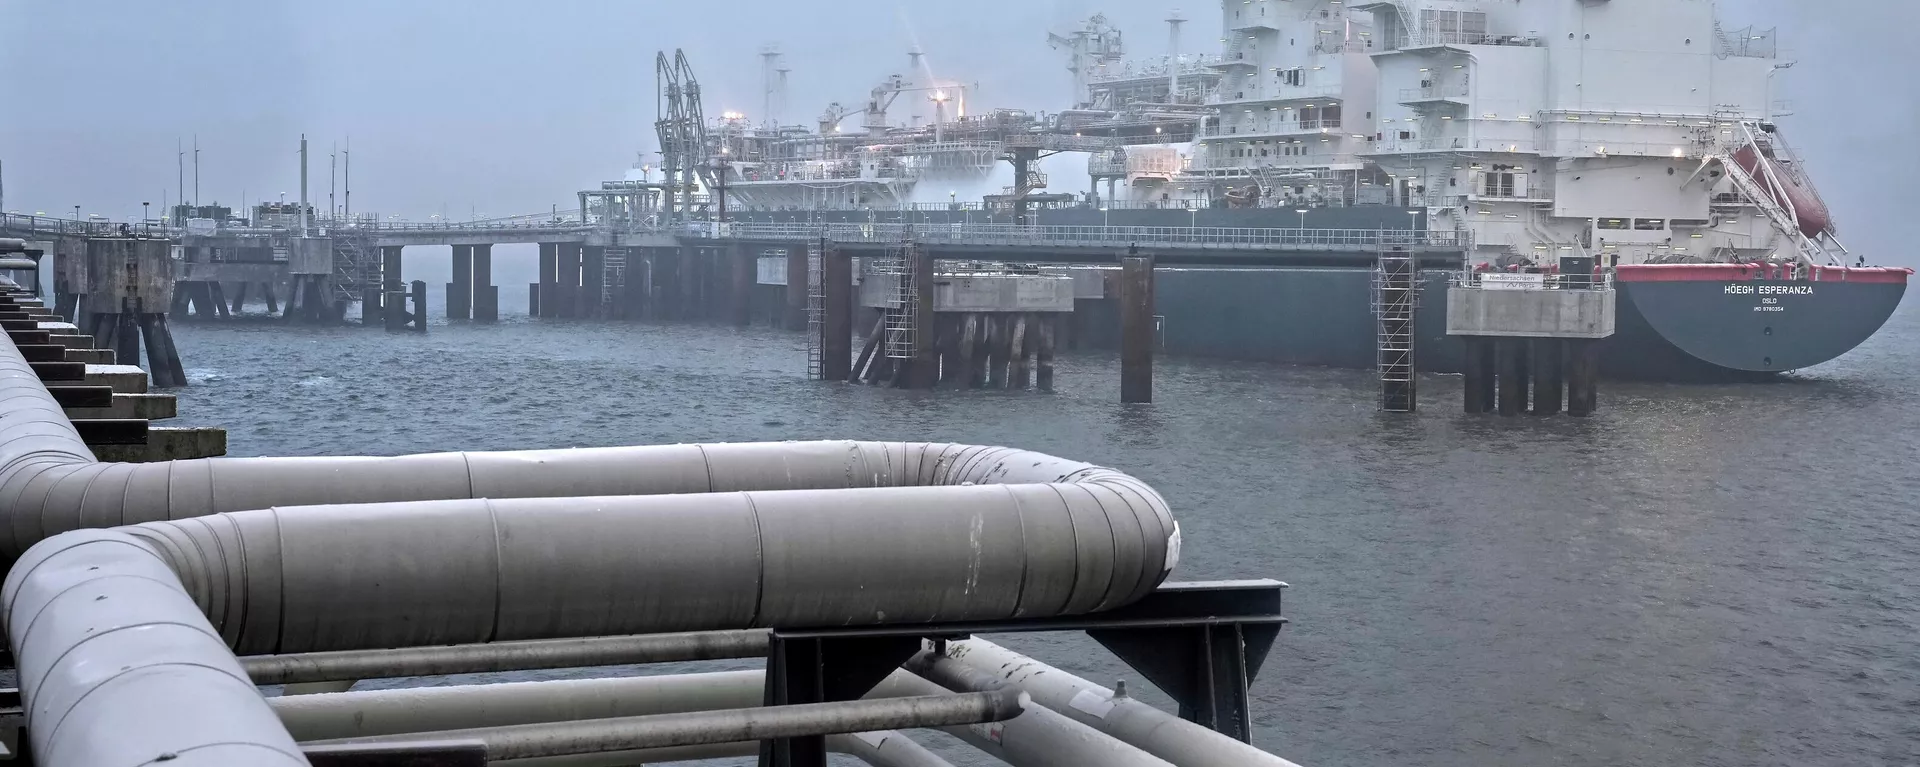
{"type": "Polygon", "coordinates": [[[1711,0],[1402,0],[1354,12],[1371,12],[1380,38],[1371,158],[1392,202],[1427,206],[1432,227],[1471,229],[1484,260],[1812,258],[1818,248],[1793,240],[1830,235],[1770,123],[1774,33],[1724,29],[1711,0]],[[1728,160],[1755,140],[1793,190],[1730,179],[1747,175],[1728,160]],[[1811,204],[1782,219],[1791,196],[1811,204]]]}

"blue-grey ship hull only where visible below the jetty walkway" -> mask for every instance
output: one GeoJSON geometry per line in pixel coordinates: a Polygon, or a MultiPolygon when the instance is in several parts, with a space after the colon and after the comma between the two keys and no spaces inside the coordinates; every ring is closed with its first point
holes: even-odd
{"type": "MultiPolygon", "coordinates": [[[[1430,373],[1461,369],[1463,346],[1446,334],[1446,273],[1425,273],[1415,311],[1417,367],[1430,373]]],[[[1367,269],[1160,269],[1154,292],[1162,350],[1373,367],[1369,290],[1367,269]]],[[[1601,342],[1601,373],[1693,383],[1770,379],[1847,354],[1893,315],[1905,290],[1905,283],[1839,281],[1619,283],[1617,333],[1601,342]]],[[[1077,340],[1117,346],[1117,311],[1112,298],[1083,300],[1075,309],[1077,340]]]]}

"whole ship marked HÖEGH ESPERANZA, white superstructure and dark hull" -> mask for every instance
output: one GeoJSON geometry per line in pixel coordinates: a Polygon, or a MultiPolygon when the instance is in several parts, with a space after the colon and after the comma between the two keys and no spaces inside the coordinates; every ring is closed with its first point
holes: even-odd
{"type": "MultiPolygon", "coordinates": [[[[1006,202],[1025,198],[1033,225],[1465,233],[1469,248],[1425,263],[1417,334],[1436,371],[1457,369],[1444,285],[1463,269],[1597,265],[1620,296],[1603,367],[1651,379],[1818,365],[1905,294],[1910,269],[1841,246],[1776,123],[1772,79],[1791,63],[1774,31],[1732,29],[1711,2],[1223,0],[1221,52],[1204,58],[1177,52],[1169,21],[1175,50],[1158,65],[1123,60],[1100,17],[1054,35],[1077,104],[995,113],[1106,136],[1085,194],[1043,194],[1043,179],[977,208],[908,206],[897,183],[899,204],[733,215],[1010,223],[1006,202]]],[[[1164,348],[1371,367],[1369,267],[1365,254],[1164,265],[1164,348]]],[[[1112,300],[1081,304],[1081,340],[1098,344],[1112,300]]]]}

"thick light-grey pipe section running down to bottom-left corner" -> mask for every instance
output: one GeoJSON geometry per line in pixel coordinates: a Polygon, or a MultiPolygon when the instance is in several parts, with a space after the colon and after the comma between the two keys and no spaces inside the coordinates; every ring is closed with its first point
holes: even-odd
{"type": "Polygon", "coordinates": [[[180,581],[138,538],[79,531],[35,546],[4,596],[35,763],[307,763],[180,581]]]}

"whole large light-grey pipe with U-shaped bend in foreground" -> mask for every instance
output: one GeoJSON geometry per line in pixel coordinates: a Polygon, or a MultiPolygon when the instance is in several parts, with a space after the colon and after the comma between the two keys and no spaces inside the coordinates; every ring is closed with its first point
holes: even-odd
{"type": "Polygon", "coordinates": [[[98,463],[13,344],[0,509],[0,615],[50,767],[305,763],[232,650],[1068,615],[1179,557],[1144,482],[1008,448],[98,463]]]}

